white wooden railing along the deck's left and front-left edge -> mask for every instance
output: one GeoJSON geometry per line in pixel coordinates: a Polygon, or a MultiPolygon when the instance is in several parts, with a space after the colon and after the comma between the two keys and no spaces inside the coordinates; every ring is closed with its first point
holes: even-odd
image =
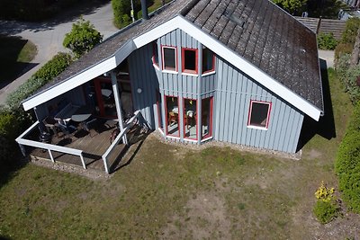
{"type": "Polygon", "coordinates": [[[83,167],[86,169],[84,156],[83,156],[83,150],[78,150],[70,147],[61,147],[57,145],[52,145],[48,143],[41,143],[29,139],[25,139],[25,137],[31,132],[32,129],[36,128],[39,125],[39,120],[37,120],[34,124],[31,125],[29,129],[26,129],[22,135],[20,135],[18,138],[15,139],[15,141],[19,144],[20,148],[22,148],[22,152],[24,154],[23,146],[31,146],[31,147],[39,147],[42,149],[47,149],[49,152],[50,159],[53,163],[55,163],[55,159],[52,156],[51,151],[56,151],[64,154],[69,155],[75,155],[79,156],[81,159],[81,163],[83,164],[83,167]]]}

